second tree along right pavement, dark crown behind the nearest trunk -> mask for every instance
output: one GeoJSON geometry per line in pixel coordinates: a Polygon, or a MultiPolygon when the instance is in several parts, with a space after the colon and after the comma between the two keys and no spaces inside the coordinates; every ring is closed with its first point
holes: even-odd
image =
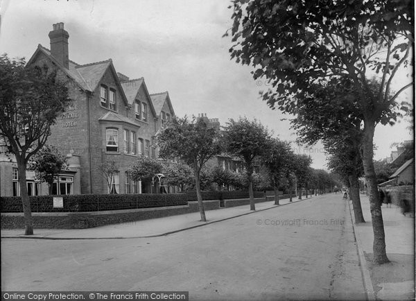
{"type": "Polygon", "coordinates": [[[297,100],[292,128],[297,130],[300,142],[312,145],[321,140],[325,150],[335,156],[331,162],[339,162],[340,166],[332,165],[331,169],[347,179],[356,222],[364,222],[358,184],[358,177],[363,175],[360,154],[363,115],[356,105],[358,95],[354,96],[354,85],[348,79],[330,80],[313,87],[313,92],[297,100]]]}

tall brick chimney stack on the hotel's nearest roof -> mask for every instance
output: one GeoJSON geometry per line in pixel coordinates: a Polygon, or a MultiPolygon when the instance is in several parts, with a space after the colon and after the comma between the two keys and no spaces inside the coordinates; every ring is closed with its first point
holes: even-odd
{"type": "Polygon", "coordinates": [[[68,38],[69,34],[64,30],[62,22],[53,24],[53,31],[49,33],[51,55],[67,69],[69,69],[68,38]]]}

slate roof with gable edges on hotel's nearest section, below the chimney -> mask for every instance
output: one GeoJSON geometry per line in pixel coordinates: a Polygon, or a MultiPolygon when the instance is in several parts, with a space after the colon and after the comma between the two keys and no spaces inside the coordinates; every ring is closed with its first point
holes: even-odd
{"type": "Polygon", "coordinates": [[[44,53],[47,58],[49,58],[55,65],[57,65],[64,74],[67,74],[69,78],[72,78],[78,86],[83,89],[83,91],[89,91],[94,93],[98,83],[100,83],[101,78],[103,78],[105,72],[108,68],[110,68],[116,85],[119,87],[121,98],[123,98],[123,102],[125,105],[128,105],[127,98],[125,97],[123,87],[121,87],[119,77],[117,76],[116,69],[114,69],[114,65],[112,64],[112,59],[103,60],[101,62],[92,62],[86,65],[79,65],[76,62],[69,60],[69,68],[63,67],[58,60],[56,60],[53,55],[51,55],[51,51],[46,49],[41,44],[37,45],[37,49],[35,53],[33,53],[31,59],[28,61],[27,65],[31,65],[37,55],[40,53],[44,53]]]}

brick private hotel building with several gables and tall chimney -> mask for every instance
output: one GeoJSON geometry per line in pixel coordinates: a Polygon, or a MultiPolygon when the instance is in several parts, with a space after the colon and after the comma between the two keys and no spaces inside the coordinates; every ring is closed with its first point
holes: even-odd
{"type": "MultiPolygon", "coordinates": [[[[86,65],[69,60],[69,33],[63,23],[53,24],[49,37],[51,50],[39,44],[28,65],[57,69],[69,88],[72,103],[51,128],[46,142],[78,160],[71,173],[79,179],[79,187],[69,193],[108,193],[107,180],[99,170],[106,160],[119,166],[112,183],[117,193],[152,192],[149,184],[130,181],[126,171],[138,155],[157,157],[155,135],[175,116],[168,92],[149,94],[144,78],[130,80],[117,73],[111,59],[86,65]]],[[[6,165],[0,162],[0,196],[14,194],[10,189],[12,170],[6,165]]],[[[47,189],[41,190],[33,194],[47,194],[47,189]]]]}

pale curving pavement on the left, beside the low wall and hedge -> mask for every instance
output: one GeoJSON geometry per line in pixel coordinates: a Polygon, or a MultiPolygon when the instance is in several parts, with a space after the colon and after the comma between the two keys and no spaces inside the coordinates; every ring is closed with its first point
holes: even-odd
{"type": "MultiPolygon", "coordinates": [[[[306,200],[303,198],[302,200],[306,200]]],[[[307,198],[311,200],[311,197],[307,198]]],[[[293,198],[293,203],[298,202],[293,198]]],[[[288,205],[289,199],[279,200],[279,204],[288,205]]],[[[256,203],[256,211],[278,207],[274,201],[256,203]]],[[[105,225],[88,229],[34,229],[34,234],[24,236],[24,230],[1,230],[1,238],[21,238],[21,239],[129,239],[139,237],[153,237],[171,234],[187,230],[193,227],[200,227],[209,223],[216,223],[228,218],[234,218],[245,214],[253,213],[250,205],[237,207],[221,208],[205,211],[207,222],[200,221],[200,213],[180,214],[176,216],[166,216],[153,218],[145,221],[134,221],[114,225],[105,225]]]]}

